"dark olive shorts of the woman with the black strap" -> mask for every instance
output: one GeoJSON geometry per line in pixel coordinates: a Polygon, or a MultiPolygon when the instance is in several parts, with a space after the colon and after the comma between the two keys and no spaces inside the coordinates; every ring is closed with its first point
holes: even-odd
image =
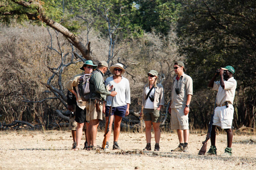
{"type": "Polygon", "coordinates": [[[144,108],[143,119],[144,121],[159,123],[161,121],[161,114],[157,109],[144,108]]]}

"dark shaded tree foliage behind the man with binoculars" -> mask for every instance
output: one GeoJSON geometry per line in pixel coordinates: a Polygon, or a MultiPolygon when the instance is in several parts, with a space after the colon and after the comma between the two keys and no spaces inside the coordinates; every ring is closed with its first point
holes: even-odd
{"type": "Polygon", "coordinates": [[[239,120],[235,125],[255,126],[256,2],[182,2],[177,32],[195,90],[206,89],[219,67],[234,66],[238,82],[235,120],[239,120]]]}

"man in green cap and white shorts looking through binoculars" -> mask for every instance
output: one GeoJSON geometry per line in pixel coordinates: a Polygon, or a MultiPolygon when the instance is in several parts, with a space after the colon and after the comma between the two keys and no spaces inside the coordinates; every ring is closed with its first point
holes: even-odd
{"type": "Polygon", "coordinates": [[[233,101],[236,92],[236,80],[233,77],[235,69],[233,66],[221,67],[215,73],[214,77],[208,84],[213,90],[218,91],[216,102],[217,107],[214,110],[212,131],[211,131],[211,147],[207,152],[207,155],[217,155],[217,148],[215,146],[216,139],[216,126],[220,126],[227,132],[228,145],[225,149],[224,154],[221,156],[232,156],[232,139],[233,132],[231,130],[231,125],[234,115],[233,101]],[[220,75],[220,81],[215,81],[215,79],[220,75]],[[215,81],[215,82],[214,82],[215,81]]]}

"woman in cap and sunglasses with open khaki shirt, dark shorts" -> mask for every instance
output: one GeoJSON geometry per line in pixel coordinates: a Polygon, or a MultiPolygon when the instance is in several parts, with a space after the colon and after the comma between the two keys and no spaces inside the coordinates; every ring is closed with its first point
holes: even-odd
{"type": "Polygon", "coordinates": [[[148,83],[143,88],[142,108],[143,119],[146,125],[147,146],[143,150],[151,150],[151,125],[155,133],[155,151],[159,151],[159,141],[161,137],[160,110],[164,105],[164,89],[162,84],[157,84],[158,73],[155,70],[148,72],[148,83]]]}

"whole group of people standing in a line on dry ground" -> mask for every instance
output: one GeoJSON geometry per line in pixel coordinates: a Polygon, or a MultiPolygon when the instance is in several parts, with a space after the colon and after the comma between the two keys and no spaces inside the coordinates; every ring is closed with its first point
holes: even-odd
{"type": "MultiPolygon", "coordinates": [[[[110,127],[110,131],[107,133],[106,137],[106,149],[109,148],[108,141],[113,122],[113,149],[120,149],[117,143],[120,133],[120,125],[122,118],[129,115],[129,108],[131,104],[129,80],[123,77],[123,74],[125,73],[124,66],[117,63],[109,68],[106,61],[102,61],[99,62],[98,65],[94,65],[92,61],[87,60],[80,69],[83,70],[84,73],[75,75],[75,77],[70,79],[66,84],[66,88],[69,90],[67,95],[68,109],[71,112],[75,112],[75,120],[71,121],[74,140],[73,149],[79,150],[83,127],[86,128],[84,149],[91,150],[97,147],[97,130],[99,121],[103,119],[103,113],[106,117],[106,128],[108,124],[110,127]],[[113,74],[113,76],[104,81],[104,74],[108,70],[113,74]],[[87,101],[83,101],[77,92],[79,77],[84,74],[90,77],[90,99],[87,101]],[[74,107],[74,105],[76,107],[74,107]],[[112,109],[110,109],[110,107],[112,109]],[[109,113],[110,111],[111,113],[109,113]],[[77,127],[75,129],[76,123],[77,127]]],[[[176,75],[173,79],[169,112],[171,113],[171,129],[177,130],[179,145],[171,151],[187,152],[189,140],[188,115],[191,97],[193,96],[193,80],[189,75],[185,74],[186,70],[183,62],[175,62],[173,69],[176,75]]],[[[236,80],[233,78],[234,73],[235,70],[232,66],[222,67],[217,73],[215,73],[213,79],[208,85],[213,88],[213,90],[218,91],[216,100],[217,107],[215,108],[211,131],[211,147],[207,152],[209,155],[217,155],[217,149],[215,147],[216,126],[220,126],[222,129],[227,131],[228,146],[225,149],[224,154],[228,156],[232,155],[231,143],[233,133],[231,130],[231,124],[234,115],[233,101],[236,89],[236,80]],[[220,75],[220,81],[215,81],[218,75],[220,75]]],[[[161,139],[160,110],[164,106],[164,89],[162,84],[157,83],[157,71],[150,70],[147,73],[147,76],[148,83],[143,88],[142,107],[140,113],[146,125],[147,145],[143,150],[151,150],[151,128],[153,125],[155,135],[154,151],[159,151],[159,142],[161,139]]]]}

